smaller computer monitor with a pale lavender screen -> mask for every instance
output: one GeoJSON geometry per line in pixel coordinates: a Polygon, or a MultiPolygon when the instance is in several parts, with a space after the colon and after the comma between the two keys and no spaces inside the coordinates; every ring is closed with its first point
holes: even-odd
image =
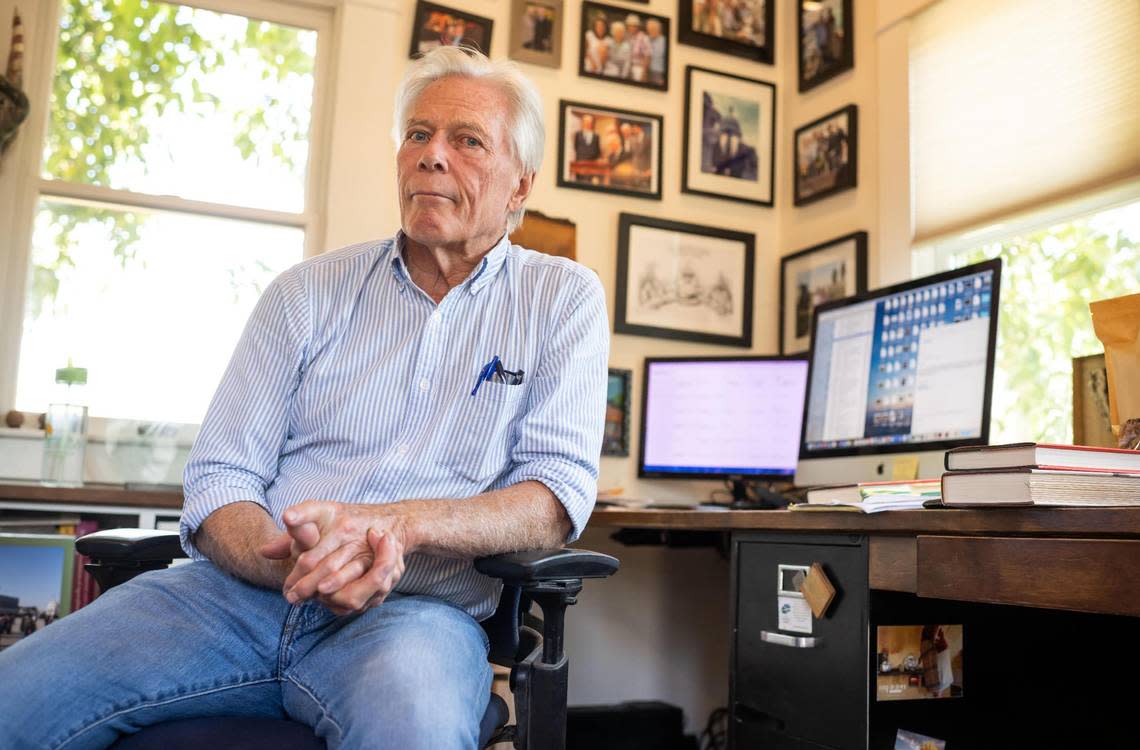
{"type": "Polygon", "coordinates": [[[646,358],[637,474],[650,479],[720,479],[748,503],[791,481],[807,388],[803,357],[646,358]]]}

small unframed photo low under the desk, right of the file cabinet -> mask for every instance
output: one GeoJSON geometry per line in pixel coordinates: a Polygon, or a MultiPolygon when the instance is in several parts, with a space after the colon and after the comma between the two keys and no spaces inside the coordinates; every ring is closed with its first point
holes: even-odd
{"type": "Polygon", "coordinates": [[[961,698],[961,625],[878,627],[876,700],[961,698]]]}

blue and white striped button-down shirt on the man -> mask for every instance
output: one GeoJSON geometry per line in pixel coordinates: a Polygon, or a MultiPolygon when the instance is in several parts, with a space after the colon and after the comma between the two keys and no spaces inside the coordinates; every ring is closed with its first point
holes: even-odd
{"type": "MultiPolygon", "coordinates": [[[[182,547],[219,507],[282,525],[307,499],[464,498],[537,480],[581,533],[597,495],[609,324],[597,276],[504,237],[437,305],[402,236],[309,259],[258,302],[186,465],[182,547]],[[483,382],[482,366],[524,370],[483,382]]],[[[489,616],[498,581],[470,560],[408,556],[398,592],[489,616]]]]}

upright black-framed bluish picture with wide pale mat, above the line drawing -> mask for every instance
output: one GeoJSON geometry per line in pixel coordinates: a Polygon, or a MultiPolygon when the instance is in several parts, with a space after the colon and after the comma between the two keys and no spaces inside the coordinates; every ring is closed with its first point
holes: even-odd
{"type": "Polygon", "coordinates": [[[685,145],[681,189],[772,205],[776,87],[685,67],[685,145]]]}

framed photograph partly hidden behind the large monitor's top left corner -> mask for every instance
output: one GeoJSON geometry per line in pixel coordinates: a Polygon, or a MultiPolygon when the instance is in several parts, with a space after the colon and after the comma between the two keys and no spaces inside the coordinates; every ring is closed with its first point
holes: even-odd
{"type": "Polygon", "coordinates": [[[811,345],[812,315],[831,300],[866,292],[866,233],[829,239],[780,259],[780,353],[811,345]]]}

